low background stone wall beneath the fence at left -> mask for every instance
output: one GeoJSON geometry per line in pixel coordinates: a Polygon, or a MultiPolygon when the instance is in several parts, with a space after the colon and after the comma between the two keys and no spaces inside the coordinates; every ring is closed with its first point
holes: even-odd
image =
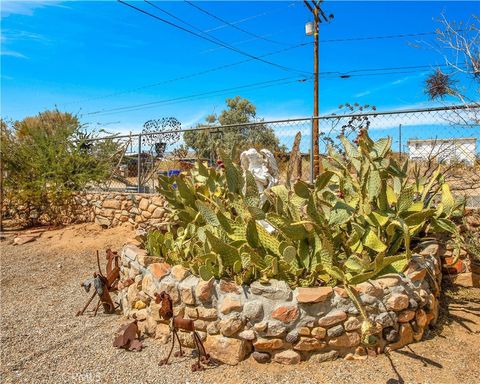
{"type": "MultiPolygon", "coordinates": [[[[131,224],[134,227],[155,228],[167,221],[166,202],[160,195],[98,192],[78,193],[74,196],[67,212],[62,212],[65,224],[95,222],[103,227],[116,227],[131,224]]],[[[4,212],[10,216],[26,220],[37,218],[35,211],[27,207],[11,207],[5,202],[4,212]]],[[[40,217],[49,223],[49,218],[40,217]]],[[[42,220],[43,219],[43,220],[42,220]]]]}

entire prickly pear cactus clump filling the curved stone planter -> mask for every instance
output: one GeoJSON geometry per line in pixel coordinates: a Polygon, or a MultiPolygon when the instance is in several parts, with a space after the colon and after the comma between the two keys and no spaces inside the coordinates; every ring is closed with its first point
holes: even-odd
{"type": "Polygon", "coordinates": [[[408,164],[389,156],[390,139],[374,142],[361,130],[357,144],[341,142],[314,185],[275,186],[262,207],[253,176],[224,153],[224,170],[198,163],[175,185],[161,179],[180,225],[167,258],[204,279],[350,285],[401,271],[416,238],[456,231],[450,216],[459,205],[440,171],[412,184],[408,164]]]}

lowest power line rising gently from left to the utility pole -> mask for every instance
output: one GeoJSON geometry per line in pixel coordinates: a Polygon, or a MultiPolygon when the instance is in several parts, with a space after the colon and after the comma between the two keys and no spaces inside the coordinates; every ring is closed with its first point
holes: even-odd
{"type": "Polygon", "coordinates": [[[84,113],[83,115],[98,115],[98,114],[105,114],[109,112],[131,112],[131,111],[136,111],[140,109],[150,108],[152,106],[157,106],[158,104],[165,104],[165,103],[181,101],[181,100],[190,100],[191,98],[197,98],[200,96],[210,96],[216,93],[225,93],[225,92],[230,92],[230,91],[245,89],[245,88],[258,89],[258,88],[265,88],[265,86],[274,86],[274,85],[288,84],[288,83],[294,83],[294,82],[304,82],[308,80],[308,79],[298,79],[297,77],[295,77],[295,80],[292,80],[292,79],[293,77],[285,77],[285,78],[251,83],[251,84],[246,84],[246,85],[241,85],[241,86],[236,86],[231,88],[223,88],[223,89],[214,90],[214,91],[202,92],[194,95],[179,96],[171,99],[158,100],[158,101],[153,101],[149,103],[127,105],[127,106],[111,108],[111,109],[102,109],[99,111],[84,113]],[[285,81],[288,81],[288,83],[285,83],[285,81]]]}

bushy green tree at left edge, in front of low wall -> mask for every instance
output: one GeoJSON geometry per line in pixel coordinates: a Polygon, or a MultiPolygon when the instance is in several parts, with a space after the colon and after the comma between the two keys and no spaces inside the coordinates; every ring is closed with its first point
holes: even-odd
{"type": "Polygon", "coordinates": [[[1,124],[3,189],[12,206],[29,212],[28,224],[67,217],[72,195],[110,177],[118,146],[90,141],[78,118],[45,111],[1,124]]]}

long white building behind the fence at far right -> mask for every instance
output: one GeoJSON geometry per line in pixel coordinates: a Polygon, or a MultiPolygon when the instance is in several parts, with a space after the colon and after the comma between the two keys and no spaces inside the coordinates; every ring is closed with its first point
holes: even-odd
{"type": "Polygon", "coordinates": [[[477,153],[475,137],[408,140],[408,153],[412,160],[435,158],[439,162],[474,165],[477,153]]]}

